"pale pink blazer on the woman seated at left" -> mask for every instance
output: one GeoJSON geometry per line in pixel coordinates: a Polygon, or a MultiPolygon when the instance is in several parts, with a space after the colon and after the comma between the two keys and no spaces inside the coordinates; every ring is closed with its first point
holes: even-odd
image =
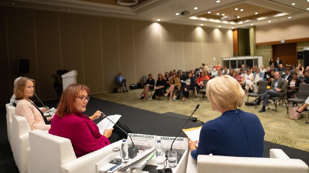
{"type": "Polygon", "coordinates": [[[24,116],[28,120],[31,130],[35,130],[35,129],[49,130],[50,129],[50,125],[45,124],[41,113],[26,99],[17,101],[17,105],[15,108],[15,114],[24,116]]]}

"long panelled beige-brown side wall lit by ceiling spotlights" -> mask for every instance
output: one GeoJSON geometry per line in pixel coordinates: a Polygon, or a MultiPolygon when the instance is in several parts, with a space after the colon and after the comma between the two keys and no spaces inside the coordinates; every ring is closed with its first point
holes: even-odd
{"type": "Polygon", "coordinates": [[[121,71],[128,86],[143,75],[190,70],[233,56],[232,31],[94,15],[0,6],[0,105],[13,91],[19,59],[29,59],[27,77],[42,100],[55,99],[52,74],[77,70],[91,93],[110,92],[121,71]],[[216,61],[213,61],[216,57],[216,61]]]}

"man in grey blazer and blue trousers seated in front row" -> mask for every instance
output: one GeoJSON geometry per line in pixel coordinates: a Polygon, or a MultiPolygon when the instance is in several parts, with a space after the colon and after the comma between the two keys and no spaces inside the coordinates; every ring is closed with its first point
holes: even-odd
{"type": "Polygon", "coordinates": [[[262,97],[256,102],[257,105],[260,105],[261,101],[264,100],[263,107],[259,112],[265,112],[265,107],[270,97],[280,97],[286,94],[286,80],[281,78],[277,71],[274,73],[274,77],[275,79],[271,81],[270,90],[266,90],[262,97]]]}

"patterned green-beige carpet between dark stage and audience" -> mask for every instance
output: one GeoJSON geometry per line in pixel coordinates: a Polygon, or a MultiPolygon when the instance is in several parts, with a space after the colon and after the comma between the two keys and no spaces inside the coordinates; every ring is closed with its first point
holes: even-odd
{"type": "MultiPolygon", "coordinates": [[[[221,115],[220,112],[212,110],[207,98],[200,100],[199,98],[195,99],[191,97],[184,102],[180,100],[169,101],[166,97],[163,97],[162,100],[142,100],[138,99],[142,91],[143,89],[137,89],[131,90],[128,93],[107,93],[91,96],[152,112],[174,112],[187,116],[190,116],[195,106],[200,104],[199,109],[193,116],[203,122],[221,115]]],[[[247,100],[247,97],[245,100],[247,100]]],[[[253,100],[253,98],[249,98],[250,100],[253,100]]],[[[261,106],[255,108],[255,106],[246,106],[243,104],[243,107],[240,109],[255,113],[260,118],[265,130],[265,141],[309,152],[309,124],[305,124],[308,120],[308,112],[304,112],[303,118],[299,120],[291,120],[289,115],[286,114],[285,106],[278,105],[277,113],[272,110],[274,109],[274,104],[269,104],[269,106],[270,110],[266,109],[266,112],[263,113],[258,112],[261,106]]]]}

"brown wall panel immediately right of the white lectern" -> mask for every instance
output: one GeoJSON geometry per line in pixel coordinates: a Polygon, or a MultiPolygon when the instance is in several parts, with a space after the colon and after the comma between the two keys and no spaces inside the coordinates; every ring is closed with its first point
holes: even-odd
{"type": "Polygon", "coordinates": [[[80,26],[83,41],[84,83],[89,86],[90,93],[103,92],[100,17],[81,15],[80,26]]]}

